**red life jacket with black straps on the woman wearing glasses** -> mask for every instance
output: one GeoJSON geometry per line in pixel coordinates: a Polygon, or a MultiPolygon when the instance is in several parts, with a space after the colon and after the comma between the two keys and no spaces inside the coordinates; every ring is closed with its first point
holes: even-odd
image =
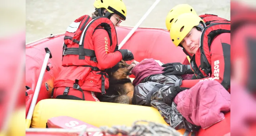
{"type": "Polygon", "coordinates": [[[82,92],[87,90],[102,94],[105,94],[105,89],[108,89],[108,75],[105,73],[105,69],[97,65],[94,51],[92,36],[96,29],[105,29],[108,32],[109,52],[114,52],[117,47],[116,30],[110,19],[106,17],[93,19],[84,15],[72,22],[64,37],[62,50],[62,66],[64,67],[54,85],[55,88],[66,87],[63,90],[63,95],[68,95],[69,87],[82,92]],[[100,80],[101,82],[99,82],[100,80]],[[100,88],[101,91],[99,91],[100,88]]]}

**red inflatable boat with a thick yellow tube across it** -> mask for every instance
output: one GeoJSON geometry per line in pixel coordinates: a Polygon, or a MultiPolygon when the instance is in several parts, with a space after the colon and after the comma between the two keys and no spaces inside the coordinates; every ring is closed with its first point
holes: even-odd
{"type": "MultiPolygon", "coordinates": [[[[131,31],[131,27],[117,27],[118,44],[131,31]]],[[[26,116],[40,76],[47,51],[49,59],[46,63],[39,95],[35,102],[32,118],[28,120],[30,128],[46,128],[47,120],[58,116],[69,116],[88,124],[100,126],[131,126],[134,121],[147,120],[168,125],[157,109],[153,107],[127,105],[106,102],[51,99],[54,80],[61,70],[62,46],[64,34],[50,35],[26,44],[26,116]],[[49,54],[49,53],[48,53],[49,54]]],[[[140,62],[145,58],[154,58],[163,63],[180,62],[189,64],[181,48],[176,48],[169,37],[169,32],[159,28],[138,28],[124,44],[122,49],[129,49],[134,60],[140,62]]],[[[128,64],[131,61],[127,62],[128,64]]],[[[130,76],[134,78],[134,75],[130,76]]],[[[230,113],[225,119],[208,129],[200,130],[198,136],[224,135],[230,132],[230,113]]],[[[26,120],[27,123],[27,120],[26,120]]],[[[177,130],[184,133],[185,130],[177,130]]],[[[59,134],[46,132],[26,132],[27,135],[59,134]]]]}

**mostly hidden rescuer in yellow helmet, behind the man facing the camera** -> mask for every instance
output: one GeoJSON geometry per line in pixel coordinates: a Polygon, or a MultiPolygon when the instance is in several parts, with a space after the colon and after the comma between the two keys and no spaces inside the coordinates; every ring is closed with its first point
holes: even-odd
{"type": "MultiPolygon", "coordinates": [[[[170,29],[171,29],[171,25],[174,22],[173,21],[174,18],[178,17],[179,15],[181,15],[183,13],[193,13],[193,14],[197,15],[194,8],[188,4],[178,4],[178,5],[174,6],[170,10],[168,15],[166,16],[165,23],[166,23],[166,28],[168,31],[170,31],[170,29]]],[[[212,21],[228,21],[227,19],[218,17],[217,15],[212,15],[212,14],[204,14],[204,15],[200,15],[199,17],[202,18],[202,20],[205,22],[206,26],[208,26],[212,21]]],[[[187,55],[188,62],[189,62],[192,57],[192,54],[187,52],[184,48],[183,48],[183,51],[187,55]]],[[[189,67],[189,65],[188,65],[188,67],[189,67]]],[[[188,70],[186,74],[194,74],[194,72],[192,70],[188,70]]],[[[192,79],[197,79],[195,74],[193,75],[192,79]]]]}

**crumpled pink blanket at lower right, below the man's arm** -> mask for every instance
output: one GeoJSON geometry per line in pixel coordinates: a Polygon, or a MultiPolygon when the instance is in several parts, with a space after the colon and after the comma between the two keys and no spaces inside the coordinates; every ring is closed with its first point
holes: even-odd
{"type": "Polygon", "coordinates": [[[174,99],[186,120],[206,129],[224,119],[230,111],[230,94],[217,81],[203,81],[180,92],[174,99]]]}

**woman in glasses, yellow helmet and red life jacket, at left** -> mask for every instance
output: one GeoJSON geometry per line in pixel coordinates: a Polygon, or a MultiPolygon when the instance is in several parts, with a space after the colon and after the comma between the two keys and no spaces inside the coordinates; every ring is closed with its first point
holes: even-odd
{"type": "Polygon", "coordinates": [[[115,27],[126,20],[121,0],[95,0],[92,17],[81,16],[67,28],[62,69],[55,80],[53,98],[99,101],[109,87],[105,69],[121,60],[133,60],[127,49],[118,49],[115,27]]]}

